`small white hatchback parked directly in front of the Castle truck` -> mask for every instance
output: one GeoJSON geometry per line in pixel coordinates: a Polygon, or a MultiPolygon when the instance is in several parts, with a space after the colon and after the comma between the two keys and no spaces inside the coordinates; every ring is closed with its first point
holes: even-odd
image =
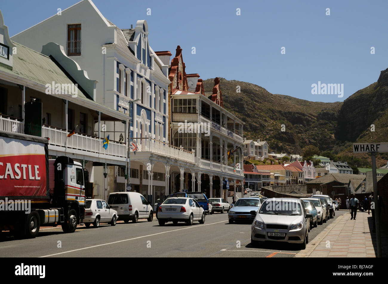
{"type": "Polygon", "coordinates": [[[85,201],[85,218],[83,223],[86,227],[93,224],[93,227],[98,228],[100,223],[109,223],[112,226],[116,225],[117,211],[113,210],[105,200],[87,199],[85,201]]]}

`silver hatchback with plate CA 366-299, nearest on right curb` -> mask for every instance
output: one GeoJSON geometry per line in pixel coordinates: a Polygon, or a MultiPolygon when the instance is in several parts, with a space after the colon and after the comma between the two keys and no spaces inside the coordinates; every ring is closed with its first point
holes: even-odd
{"type": "Polygon", "coordinates": [[[308,222],[312,215],[298,198],[270,198],[264,201],[251,229],[251,244],[258,241],[298,243],[301,249],[308,243],[308,222]]]}

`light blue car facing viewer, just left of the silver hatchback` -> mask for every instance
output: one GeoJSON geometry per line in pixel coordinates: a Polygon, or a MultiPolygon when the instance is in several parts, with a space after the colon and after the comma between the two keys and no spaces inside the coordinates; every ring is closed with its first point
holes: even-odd
{"type": "Polygon", "coordinates": [[[236,201],[236,203],[234,203],[234,206],[229,210],[229,224],[234,223],[234,221],[246,221],[255,219],[256,213],[262,203],[262,198],[240,198],[236,201]]]}

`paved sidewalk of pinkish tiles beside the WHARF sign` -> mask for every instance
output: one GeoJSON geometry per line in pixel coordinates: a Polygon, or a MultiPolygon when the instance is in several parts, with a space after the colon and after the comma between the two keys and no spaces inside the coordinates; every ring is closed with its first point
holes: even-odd
{"type": "MultiPolygon", "coordinates": [[[[376,257],[376,234],[372,213],[357,212],[356,220],[346,213],[318,243],[308,257],[376,257]]],[[[387,232],[381,227],[381,254],[388,256],[387,232]]]]}

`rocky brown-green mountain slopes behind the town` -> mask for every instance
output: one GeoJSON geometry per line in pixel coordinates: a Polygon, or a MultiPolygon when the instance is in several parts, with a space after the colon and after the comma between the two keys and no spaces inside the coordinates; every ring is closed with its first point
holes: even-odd
{"type": "MultiPolygon", "coordinates": [[[[203,83],[211,92],[214,79],[203,83]]],[[[244,137],[267,140],[270,151],[300,153],[307,145],[321,151],[346,145],[343,154],[349,155],[351,143],[388,142],[388,69],[344,102],[310,102],[224,78],[220,86],[225,109],[246,123],[244,137]]]]}

